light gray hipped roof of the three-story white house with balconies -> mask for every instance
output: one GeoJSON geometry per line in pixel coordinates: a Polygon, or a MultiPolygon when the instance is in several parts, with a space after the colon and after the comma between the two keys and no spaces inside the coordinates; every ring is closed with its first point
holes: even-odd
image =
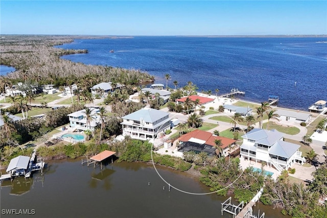
{"type": "Polygon", "coordinates": [[[123,119],[140,120],[143,118],[144,122],[153,123],[156,120],[169,116],[169,113],[152,108],[142,108],[141,110],[123,116],[123,119]]]}

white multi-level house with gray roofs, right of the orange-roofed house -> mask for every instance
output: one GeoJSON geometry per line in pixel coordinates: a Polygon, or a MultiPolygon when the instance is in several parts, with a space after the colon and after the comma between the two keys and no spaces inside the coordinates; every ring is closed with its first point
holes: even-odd
{"type": "Polygon", "coordinates": [[[276,130],[253,129],[242,136],[241,157],[255,162],[267,162],[279,172],[288,169],[295,162],[306,160],[300,146],[284,141],[284,134],[276,130]]]}

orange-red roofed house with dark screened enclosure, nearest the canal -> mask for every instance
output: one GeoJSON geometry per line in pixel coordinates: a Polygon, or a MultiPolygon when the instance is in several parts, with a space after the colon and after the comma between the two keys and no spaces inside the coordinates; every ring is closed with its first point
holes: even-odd
{"type": "Polygon", "coordinates": [[[181,152],[188,152],[188,151],[194,151],[195,153],[205,152],[209,156],[215,156],[216,155],[216,149],[215,149],[215,139],[221,140],[221,148],[222,156],[228,156],[230,151],[230,146],[235,145],[236,140],[213,135],[210,132],[206,132],[203,130],[193,130],[192,132],[186,133],[178,138],[179,140],[179,146],[181,152]]]}

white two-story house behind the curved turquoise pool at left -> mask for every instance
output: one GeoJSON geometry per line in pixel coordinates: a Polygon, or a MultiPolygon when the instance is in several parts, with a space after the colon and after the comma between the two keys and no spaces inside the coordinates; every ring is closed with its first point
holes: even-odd
{"type": "Polygon", "coordinates": [[[75,130],[90,130],[94,131],[95,127],[100,122],[100,116],[97,114],[100,112],[98,108],[89,108],[91,110],[92,120],[90,122],[86,119],[85,109],[70,113],[67,116],[69,117],[69,124],[72,128],[72,132],[75,130]]]}

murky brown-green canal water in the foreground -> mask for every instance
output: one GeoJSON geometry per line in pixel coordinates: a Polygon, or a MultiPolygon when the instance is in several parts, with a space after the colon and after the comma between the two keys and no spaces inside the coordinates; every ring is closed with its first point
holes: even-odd
{"type": "MultiPolygon", "coordinates": [[[[157,166],[173,186],[205,193],[209,188],[187,173],[157,166]]],[[[221,215],[228,197],[190,195],[171,188],[151,164],[117,161],[100,167],[81,165],[81,160],[48,163],[45,173],[33,178],[3,181],[1,217],[232,217],[221,215]],[[150,182],[150,185],[149,185],[150,182]],[[163,187],[165,186],[165,189],[163,187]],[[31,215],[8,215],[3,209],[29,209],[31,215]]],[[[257,205],[266,218],[286,217],[279,210],[257,205]]]]}

